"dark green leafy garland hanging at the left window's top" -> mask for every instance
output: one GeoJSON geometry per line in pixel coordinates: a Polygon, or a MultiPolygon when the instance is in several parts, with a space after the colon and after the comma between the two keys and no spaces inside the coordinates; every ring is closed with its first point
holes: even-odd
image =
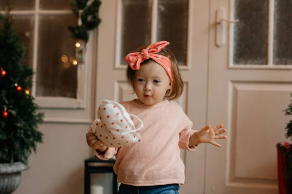
{"type": "Polygon", "coordinates": [[[88,5],[88,0],[74,0],[70,2],[73,10],[73,14],[81,19],[81,24],[77,26],[68,26],[68,30],[71,32],[71,37],[84,40],[86,43],[89,39],[89,32],[96,28],[100,23],[98,17],[100,0],[92,0],[88,5]]]}

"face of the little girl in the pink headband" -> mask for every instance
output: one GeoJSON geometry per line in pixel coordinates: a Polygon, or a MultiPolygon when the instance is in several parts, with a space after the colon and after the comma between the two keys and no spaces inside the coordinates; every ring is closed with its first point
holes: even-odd
{"type": "Polygon", "coordinates": [[[149,61],[135,71],[134,90],[145,105],[155,105],[163,101],[170,89],[170,80],[165,69],[154,61],[149,61]]]}

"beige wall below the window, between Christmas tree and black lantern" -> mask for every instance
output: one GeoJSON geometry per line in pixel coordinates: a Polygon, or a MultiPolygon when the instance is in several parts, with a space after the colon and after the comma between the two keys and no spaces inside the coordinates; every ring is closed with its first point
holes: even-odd
{"type": "Polygon", "coordinates": [[[13,194],[82,194],[84,160],[91,156],[86,144],[88,124],[44,123],[44,144],[29,157],[30,169],[22,173],[13,194]]]}

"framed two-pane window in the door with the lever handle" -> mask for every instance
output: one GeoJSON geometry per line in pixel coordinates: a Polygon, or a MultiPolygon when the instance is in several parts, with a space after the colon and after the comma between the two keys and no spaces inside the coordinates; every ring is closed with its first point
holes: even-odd
{"type": "Polygon", "coordinates": [[[251,68],[291,68],[292,1],[232,0],[231,65],[251,68]],[[284,28],[285,26],[285,28],[284,28]]]}

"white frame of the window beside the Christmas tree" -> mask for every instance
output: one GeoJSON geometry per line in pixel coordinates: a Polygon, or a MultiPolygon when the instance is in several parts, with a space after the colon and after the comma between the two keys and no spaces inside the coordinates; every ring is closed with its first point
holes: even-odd
{"type": "MultiPolygon", "coordinates": [[[[4,12],[2,12],[4,13],[4,12]]],[[[72,10],[40,10],[39,0],[36,0],[35,10],[11,11],[16,16],[35,16],[34,26],[34,49],[33,49],[33,71],[37,73],[37,54],[38,54],[38,32],[39,32],[39,16],[40,15],[68,15],[73,14],[72,10]]],[[[78,24],[80,24],[80,19],[78,24]]],[[[87,48],[88,50],[88,48],[87,48]]],[[[90,61],[88,51],[85,52],[85,63],[77,65],[77,93],[76,98],[70,97],[38,97],[36,96],[37,75],[33,77],[32,96],[40,108],[53,109],[85,109],[88,99],[88,62],[90,61]]],[[[60,59],[61,60],[61,59],[60,59]]]]}

